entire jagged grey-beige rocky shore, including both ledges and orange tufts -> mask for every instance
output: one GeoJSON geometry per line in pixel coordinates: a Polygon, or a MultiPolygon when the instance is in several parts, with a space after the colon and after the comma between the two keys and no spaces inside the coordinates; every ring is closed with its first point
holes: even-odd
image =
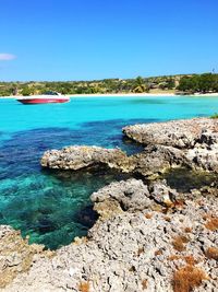
{"type": "Polygon", "coordinates": [[[86,237],[55,252],[0,226],[0,291],[218,291],[218,180],[180,192],[160,179],[173,167],[218,173],[218,120],[191,119],[123,129],[143,143],[47,151],[43,167],[109,167],[130,173],[90,197],[99,218],[86,237]],[[148,179],[152,178],[152,179],[148,179]]]}

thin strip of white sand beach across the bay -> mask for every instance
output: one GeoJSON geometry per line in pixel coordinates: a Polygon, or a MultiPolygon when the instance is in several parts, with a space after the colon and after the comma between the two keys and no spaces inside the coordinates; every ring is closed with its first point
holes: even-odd
{"type": "MultiPolygon", "coordinates": [[[[218,97],[218,93],[206,93],[206,94],[190,94],[190,95],[178,95],[174,93],[108,93],[108,94],[65,94],[65,96],[69,97],[152,97],[152,96],[156,96],[156,97],[170,97],[170,96],[192,96],[192,97],[218,97]]],[[[0,98],[2,100],[16,100],[19,97],[24,97],[22,95],[17,95],[17,96],[0,96],[0,98]]]]}

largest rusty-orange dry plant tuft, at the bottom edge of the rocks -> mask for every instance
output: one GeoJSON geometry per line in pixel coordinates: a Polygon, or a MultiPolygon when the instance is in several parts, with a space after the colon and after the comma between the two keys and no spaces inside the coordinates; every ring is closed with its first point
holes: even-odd
{"type": "Polygon", "coordinates": [[[191,292],[206,279],[207,277],[203,270],[192,265],[186,265],[174,272],[172,280],[173,291],[191,292]]]}

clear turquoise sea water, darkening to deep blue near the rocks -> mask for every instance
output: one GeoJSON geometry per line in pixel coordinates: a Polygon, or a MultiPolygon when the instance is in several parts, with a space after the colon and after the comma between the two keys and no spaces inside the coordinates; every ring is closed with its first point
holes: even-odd
{"type": "Polygon", "coordinates": [[[95,221],[89,195],[123,176],[105,170],[41,170],[44,151],[96,144],[134,153],[141,147],[123,139],[123,126],[217,112],[218,96],[74,97],[49,105],[0,100],[0,224],[20,229],[31,242],[50,248],[71,243],[95,221]]]}

